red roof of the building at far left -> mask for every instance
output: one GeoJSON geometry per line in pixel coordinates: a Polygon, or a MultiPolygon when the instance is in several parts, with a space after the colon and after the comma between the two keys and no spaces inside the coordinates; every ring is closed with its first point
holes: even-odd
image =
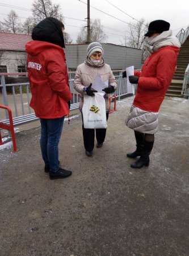
{"type": "Polygon", "coordinates": [[[25,51],[26,43],[31,40],[31,35],[0,32],[0,50],[25,51]]]}

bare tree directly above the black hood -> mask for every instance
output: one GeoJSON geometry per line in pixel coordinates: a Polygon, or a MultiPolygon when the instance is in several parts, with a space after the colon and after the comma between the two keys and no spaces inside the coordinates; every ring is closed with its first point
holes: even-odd
{"type": "Polygon", "coordinates": [[[62,22],[64,20],[60,5],[52,3],[51,0],[35,0],[32,4],[32,13],[36,24],[47,17],[54,17],[62,22]]]}

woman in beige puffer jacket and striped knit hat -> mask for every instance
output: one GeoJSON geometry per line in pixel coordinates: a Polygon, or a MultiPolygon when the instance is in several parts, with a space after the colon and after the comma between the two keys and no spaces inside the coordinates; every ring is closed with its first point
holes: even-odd
{"type": "MultiPolygon", "coordinates": [[[[94,42],[87,47],[87,57],[84,63],[78,65],[74,79],[74,89],[80,93],[79,110],[82,112],[83,94],[91,97],[94,96],[94,90],[91,89],[91,84],[99,75],[103,82],[108,80],[108,87],[104,89],[106,102],[106,117],[110,111],[109,93],[113,93],[117,88],[116,79],[111,71],[110,65],[105,64],[103,60],[103,48],[100,43],[94,42]]],[[[95,91],[96,92],[96,91],[95,91]]],[[[83,121],[83,117],[82,117],[83,121]]],[[[96,147],[100,148],[103,145],[106,137],[106,129],[83,129],[83,142],[87,156],[93,155],[94,137],[96,131],[96,147]]]]}

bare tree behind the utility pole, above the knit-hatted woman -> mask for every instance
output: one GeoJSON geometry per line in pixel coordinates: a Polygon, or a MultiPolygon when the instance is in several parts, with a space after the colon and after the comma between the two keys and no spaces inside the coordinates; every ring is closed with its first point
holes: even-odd
{"type": "MultiPolygon", "coordinates": [[[[100,19],[91,19],[90,30],[91,30],[90,42],[99,42],[99,43],[106,42],[106,39],[108,38],[108,36],[103,31],[100,19]]],[[[87,42],[87,29],[86,27],[82,27],[77,37],[77,43],[81,44],[86,42],[87,42]]]]}

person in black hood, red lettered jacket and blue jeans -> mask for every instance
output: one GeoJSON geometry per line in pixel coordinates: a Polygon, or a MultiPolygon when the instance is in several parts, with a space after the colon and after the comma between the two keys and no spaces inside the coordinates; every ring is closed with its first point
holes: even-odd
{"type": "Polygon", "coordinates": [[[65,115],[69,114],[72,94],[64,53],[64,24],[55,18],[45,18],[32,31],[32,41],[26,44],[28,79],[32,98],[30,106],[40,118],[40,146],[45,172],[50,179],[72,175],[60,168],[58,143],[65,115]]]}

